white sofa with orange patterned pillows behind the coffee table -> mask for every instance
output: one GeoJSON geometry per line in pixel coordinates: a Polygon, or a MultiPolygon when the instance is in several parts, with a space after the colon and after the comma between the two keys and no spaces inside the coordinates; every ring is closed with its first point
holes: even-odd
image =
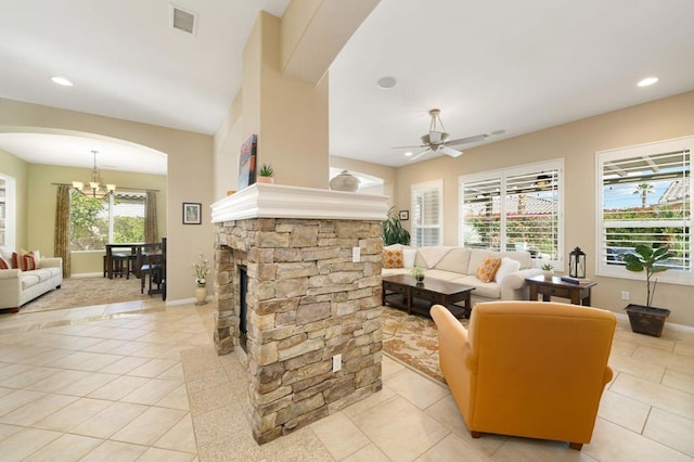
{"type": "Polygon", "coordinates": [[[473,305],[490,300],[527,300],[529,290],[526,278],[542,274],[539,268],[532,268],[529,252],[510,251],[491,252],[479,248],[429,246],[409,247],[399,244],[384,247],[384,249],[401,248],[403,253],[402,268],[384,268],[383,275],[409,274],[413,266],[425,269],[425,278],[436,278],[475,287],[472,292],[473,305]],[[487,258],[502,258],[502,267],[491,282],[483,282],[477,278],[477,269],[487,258]],[[511,265],[512,271],[503,258],[515,260],[511,265]],[[515,268],[518,267],[516,270],[515,268]]]}

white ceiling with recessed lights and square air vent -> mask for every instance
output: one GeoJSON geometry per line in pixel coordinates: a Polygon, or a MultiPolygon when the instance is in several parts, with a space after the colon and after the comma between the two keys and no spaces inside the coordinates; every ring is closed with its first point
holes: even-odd
{"type": "MultiPolygon", "coordinates": [[[[214,133],[258,11],[287,3],[177,0],[198,14],[190,36],[169,27],[165,0],[0,0],[0,97],[214,133]]],[[[404,165],[391,146],[419,144],[433,107],[451,138],[505,130],[493,142],[693,90],[693,18],[691,0],[382,0],[330,70],[331,154],[404,165]],[[398,85],[378,88],[384,76],[398,85]],[[660,80],[638,88],[646,76],[660,80]]],[[[100,167],[127,170],[104,144],[23,137],[0,149],[49,164],[80,151],[88,167],[98,150],[100,167]]],[[[138,153],[134,168],[162,158],[138,153]]]]}

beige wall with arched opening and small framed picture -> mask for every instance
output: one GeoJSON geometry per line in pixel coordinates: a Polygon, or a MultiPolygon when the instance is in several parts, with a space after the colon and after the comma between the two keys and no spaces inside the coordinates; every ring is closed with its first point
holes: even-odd
{"type": "MultiPolygon", "coordinates": [[[[0,99],[0,131],[16,131],[17,127],[115,138],[167,154],[168,300],[194,296],[191,264],[200,252],[208,258],[213,255],[214,228],[209,211],[214,201],[211,136],[0,99]],[[183,202],[202,204],[203,224],[182,224],[183,202]]],[[[51,227],[51,235],[52,230],[51,227]]]]}

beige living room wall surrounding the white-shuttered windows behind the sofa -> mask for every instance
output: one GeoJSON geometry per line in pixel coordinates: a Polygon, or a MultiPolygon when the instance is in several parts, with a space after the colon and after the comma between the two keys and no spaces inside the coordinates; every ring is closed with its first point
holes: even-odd
{"type": "MultiPolygon", "coordinates": [[[[547,130],[470,149],[458,158],[448,156],[397,170],[396,204],[410,208],[410,184],[444,179],[447,245],[458,244],[458,177],[515,165],[564,158],[565,253],[580,246],[589,260],[589,278],[597,281],[593,306],[621,312],[626,303],[645,298],[645,282],[596,278],[595,265],[595,152],[694,134],[694,92],[561,125],[547,130]]],[[[406,222],[409,226],[409,222],[406,222]]],[[[658,284],[655,305],[669,308],[671,322],[694,325],[694,287],[658,284]]]]}

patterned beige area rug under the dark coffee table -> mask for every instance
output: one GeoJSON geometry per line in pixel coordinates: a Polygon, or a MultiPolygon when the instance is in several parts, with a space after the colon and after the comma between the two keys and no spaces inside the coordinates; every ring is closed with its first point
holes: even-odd
{"type": "MultiPolygon", "coordinates": [[[[467,320],[461,320],[467,326],[467,320]]],[[[383,308],[383,349],[388,355],[442,383],[438,367],[438,333],[430,318],[383,308]]]]}

